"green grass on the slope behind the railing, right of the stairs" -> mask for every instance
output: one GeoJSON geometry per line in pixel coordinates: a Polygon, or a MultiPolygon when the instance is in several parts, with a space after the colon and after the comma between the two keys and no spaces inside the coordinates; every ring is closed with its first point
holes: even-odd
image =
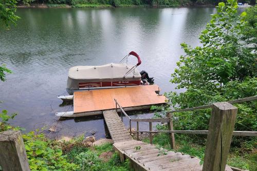
{"type": "MultiPolygon", "coordinates": [[[[203,136],[198,137],[198,140],[196,140],[197,137],[198,136],[175,134],[175,141],[177,146],[176,151],[204,160],[206,140],[203,136]]],[[[144,139],[143,141],[149,143],[148,138],[144,139]]],[[[172,150],[170,148],[168,134],[160,133],[154,135],[153,144],[172,150]]],[[[248,142],[245,144],[245,146],[242,145],[240,148],[231,147],[227,164],[237,168],[248,169],[250,171],[257,170],[256,140],[248,142]],[[251,145],[251,150],[249,150],[249,147],[247,147],[249,144],[255,144],[255,146],[251,145]]]]}

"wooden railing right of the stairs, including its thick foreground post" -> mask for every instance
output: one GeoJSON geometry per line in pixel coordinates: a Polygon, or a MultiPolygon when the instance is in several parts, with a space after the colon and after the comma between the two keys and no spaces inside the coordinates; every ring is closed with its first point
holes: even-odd
{"type": "MultiPolygon", "coordinates": [[[[121,112],[130,119],[130,132],[131,122],[137,122],[137,140],[139,139],[139,132],[149,132],[150,143],[153,141],[154,133],[166,132],[169,133],[170,144],[175,149],[174,133],[178,134],[206,134],[207,142],[205,149],[205,159],[203,165],[203,171],[225,170],[227,157],[229,153],[230,143],[232,136],[257,136],[257,131],[233,131],[237,108],[233,106],[234,103],[242,103],[257,100],[257,96],[233,100],[229,102],[218,102],[210,105],[204,105],[199,107],[192,107],[187,109],[172,110],[166,112],[167,118],[149,118],[149,119],[131,119],[122,107],[121,112]],[[199,109],[212,108],[212,115],[209,122],[209,130],[173,130],[172,113],[192,111],[199,109]],[[140,131],[139,122],[149,122],[149,131],[140,131]],[[152,122],[166,122],[168,123],[169,130],[152,130],[152,122]]],[[[122,117],[122,114],[121,114],[122,117]]]]}

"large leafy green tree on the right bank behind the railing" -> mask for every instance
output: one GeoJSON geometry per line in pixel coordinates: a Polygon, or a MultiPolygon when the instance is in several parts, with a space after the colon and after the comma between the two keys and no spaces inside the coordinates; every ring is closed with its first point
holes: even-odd
{"type": "MultiPolygon", "coordinates": [[[[188,108],[256,95],[255,53],[242,39],[247,15],[238,15],[236,9],[234,0],[219,3],[217,13],[199,37],[203,46],[181,44],[186,55],[180,56],[171,82],[176,89],[186,91],[166,94],[172,107],[188,108]]],[[[238,105],[235,130],[255,130],[254,113],[254,102],[238,105]]],[[[174,127],[208,129],[210,115],[209,109],[174,113],[174,127]]]]}

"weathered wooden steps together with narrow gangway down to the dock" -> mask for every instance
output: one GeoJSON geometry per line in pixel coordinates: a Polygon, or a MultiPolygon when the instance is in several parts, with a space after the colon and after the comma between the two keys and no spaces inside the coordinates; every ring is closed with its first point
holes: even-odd
{"type": "MultiPolygon", "coordinates": [[[[104,110],[103,116],[121,161],[130,160],[131,166],[136,171],[200,171],[203,169],[198,158],[133,140],[116,110],[104,110]]],[[[226,166],[225,170],[233,171],[229,166],[226,166]]]]}

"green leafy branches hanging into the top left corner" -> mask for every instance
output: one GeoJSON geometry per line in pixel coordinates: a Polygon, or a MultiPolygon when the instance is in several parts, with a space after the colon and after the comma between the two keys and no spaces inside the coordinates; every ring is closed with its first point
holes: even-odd
{"type": "MultiPolygon", "coordinates": [[[[15,0],[0,1],[0,22],[2,22],[6,27],[10,27],[10,23],[16,25],[16,21],[20,18],[19,16],[15,15],[16,3],[17,2],[15,0]]],[[[2,80],[1,67],[0,67],[0,79],[2,80]]]]}

